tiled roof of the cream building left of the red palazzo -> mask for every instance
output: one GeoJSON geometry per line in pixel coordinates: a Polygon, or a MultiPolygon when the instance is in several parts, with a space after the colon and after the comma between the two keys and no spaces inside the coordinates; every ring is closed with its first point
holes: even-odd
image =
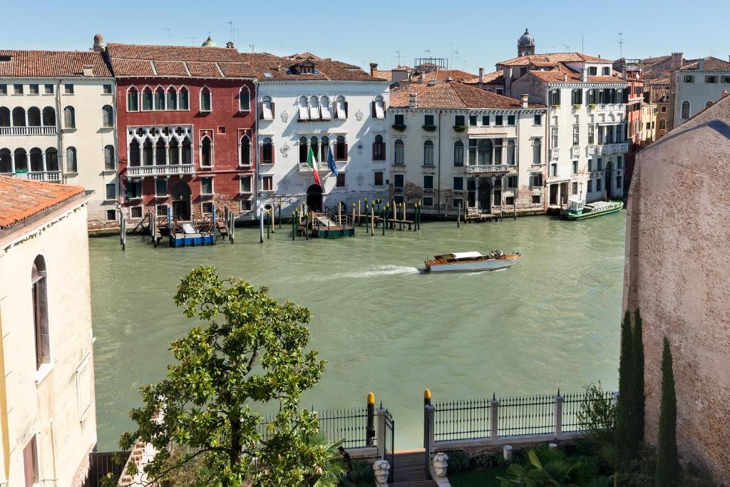
{"type": "Polygon", "coordinates": [[[0,50],[2,77],[83,77],[83,66],[92,66],[94,76],[112,77],[101,53],[93,50],[0,50]]]}

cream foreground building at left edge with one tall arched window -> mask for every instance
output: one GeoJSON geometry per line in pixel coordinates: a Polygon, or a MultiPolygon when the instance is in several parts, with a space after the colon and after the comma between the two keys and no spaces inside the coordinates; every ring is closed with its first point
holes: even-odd
{"type": "Polygon", "coordinates": [[[0,176],[0,485],[80,487],[96,445],[91,193],[0,176]]]}

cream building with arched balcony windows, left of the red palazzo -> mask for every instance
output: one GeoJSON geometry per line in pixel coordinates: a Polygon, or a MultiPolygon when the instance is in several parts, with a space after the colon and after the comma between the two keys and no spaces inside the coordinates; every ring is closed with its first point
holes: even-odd
{"type": "Polygon", "coordinates": [[[92,229],[115,225],[114,85],[99,50],[0,50],[0,174],[94,191],[92,229]]]}

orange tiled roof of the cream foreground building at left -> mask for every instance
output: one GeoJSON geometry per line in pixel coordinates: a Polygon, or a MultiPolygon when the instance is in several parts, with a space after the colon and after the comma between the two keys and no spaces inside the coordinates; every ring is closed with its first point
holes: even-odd
{"type": "Polygon", "coordinates": [[[84,188],[80,186],[0,176],[0,229],[7,229],[83,192],[84,188]]]}

